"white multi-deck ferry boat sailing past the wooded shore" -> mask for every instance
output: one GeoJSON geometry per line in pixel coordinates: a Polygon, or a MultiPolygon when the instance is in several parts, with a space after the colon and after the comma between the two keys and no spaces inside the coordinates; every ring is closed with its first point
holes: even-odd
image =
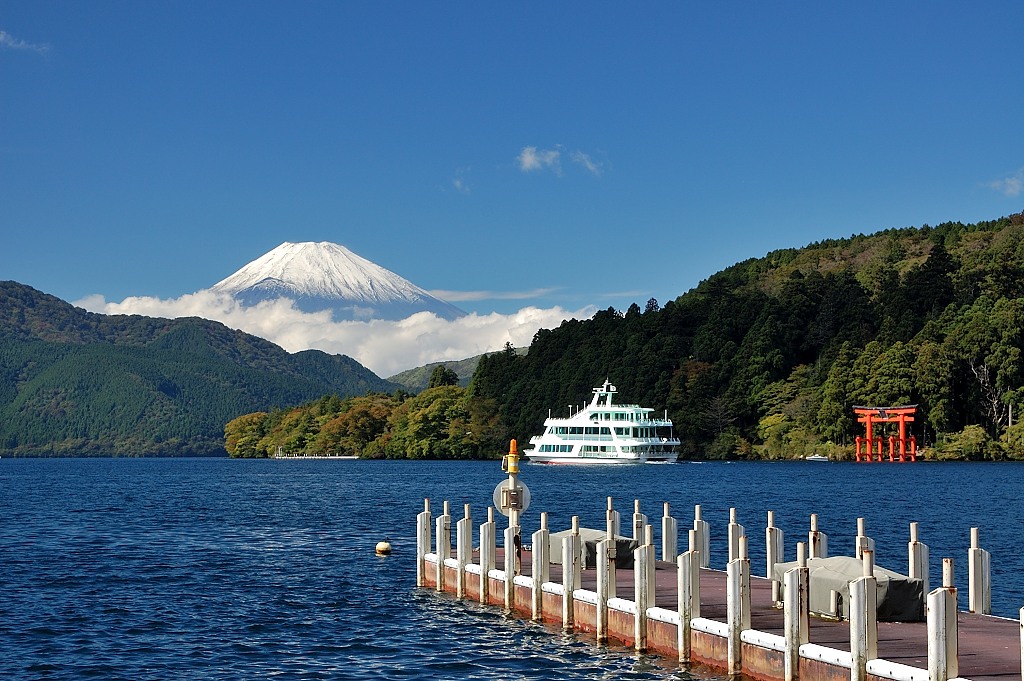
{"type": "Polygon", "coordinates": [[[540,464],[675,463],[679,438],[668,414],[659,419],[646,407],[612,403],[614,394],[605,380],[587,407],[565,419],[549,416],[523,455],[540,464]]]}

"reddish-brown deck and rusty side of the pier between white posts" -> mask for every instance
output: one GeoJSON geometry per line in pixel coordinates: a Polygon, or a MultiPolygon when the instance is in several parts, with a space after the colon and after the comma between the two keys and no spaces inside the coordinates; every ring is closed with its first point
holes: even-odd
{"type": "MultiPolygon", "coordinates": [[[[496,564],[504,565],[504,553],[501,548],[496,549],[496,564]]],[[[523,550],[521,553],[521,570],[518,573],[525,578],[531,578],[531,553],[523,550]]],[[[428,557],[429,559],[429,557],[428,557]]],[[[451,565],[449,559],[445,567],[443,591],[456,592],[457,570],[451,565]]],[[[436,572],[436,556],[434,563],[430,565],[436,572]]],[[[560,585],[562,581],[562,566],[552,564],[548,578],[549,584],[560,585]]],[[[674,563],[656,561],[655,563],[655,601],[652,606],[665,608],[666,610],[676,610],[677,608],[677,566],[674,563]]],[[[431,579],[430,569],[426,570],[426,587],[436,587],[436,577],[431,579]]],[[[500,571],[500,570],[496,570],[500,571]]],[[[489,594],[487,602],[493,605],[504,606],[504,572],[502,578],[495,579],[492,573],[489,578],[489,594]]],[[[616,592],[621,598],[633,599],[634,597],[634,570],[618,568],[615,570],[616,592]]],[[[716,569],[702,568],[699,570],[700,583],[700,616],[725,623],[727,621],[727,576],[726,572],[716,569]]],[[[465,597],[478,599],[480,593],[480,577],[468,573],[465,581],[465,597]]],[[[775,607],[772,603],[771,582],[764,578],[751,577],[751,629],[771,634],[778,637],[784,634],[784,618],[780,607],[775,607]]],[[[580,589],[596,592],[597,573],[594,569],[587,569],[581,572],[580,589]]],[[[520,616],[529,618],[531,615],[531,593],[532,589],[521,584],[515,586],[513,611],[520,616]]],[[[561,623],[561,596],[545,594],[545,604],[543,608],[543,620],[553,624],[561,623]]],[[[573,629],[581,632],[595,631],[595,614],[591,610],[596,610],[580,600],[575,601],[575,618],[573,629]]],[[[623,615],[617,613],[611,618],[609,627],[609,638],[626,645],[633,645],[633,622],[632,614],[623,615]],[[616,626],[617,618],[617,626],[616,626]]],[[[1021,679],[1021,625],[1013,620],[995,618],[990,615],[973,614],[969,612],[958,612],[957,620],[957,659],[958,677],[971,679],[972,681],[1015,681],[1021,679]]],[[[656,636],[651,634],[648,650],[665,655],[667,658],[676,658],[674,647],[675,631],[673,626],[669,636],[656,636]],[[665,640],[670,644],[665,644],[665,640]],[[662,641],[659,643],[659,641],[662,641]]],[[[851,649],[850,623],[819,616],[810,618],[809,642],[819,646],[825,646],[835,650],[850,652],[851,649]]],[[[721,641],[712,644],[722,647],[721,641]]],[[[754,653],[749,646],[744,647],[744,654],[754,653]]],[[[755,678],[779,679],[784,678],[780,672],[780,665],[777,658],[772,659],[771,654],[765,653],[766,661],[761,668],[767,672],[751,674],[744,670],[744,674],[755,678]],[[772,672],[774,670],[774,672],[772,672]]],[[[777,656],[777,655],[776,655],[777,656]]],[[[714,659],[715,655],[702,657],[694,653],[691,658],[692,664],[705,665],[709,669],[721,672],[721,665],[714,659]]],[[[918,671],[902,670],[905,675],[910,672],[912,676],[879,676],[868,673],[866,679],[886,678],[912,678],[929,679],[928,675],[928,631],[925,622],[916,623],[878,623],[878,657],[915,668],[918,671]]],[[[850,670],[842,667],[813,665],[810,664],[805,669],[805,662],[801,661],[801,678],[805,679],[850,679],[850,670]]]]}

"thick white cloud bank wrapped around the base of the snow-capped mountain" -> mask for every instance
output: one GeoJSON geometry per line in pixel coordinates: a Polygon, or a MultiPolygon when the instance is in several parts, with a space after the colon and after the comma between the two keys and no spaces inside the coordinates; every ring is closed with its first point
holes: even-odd
{"type": "Polygon", "coordinates": [[[589,306],[577,311],[524,307],[514,314],[474,313],[454,322],[430,312],[400,322],[334,322],[330,312],[302,312],[287,299],[243,307],[228,296],[209,291],[169,300],[132,297],[120,303],[94,295],[75,304],[104,314],[215,320],[265,338],[289,352],[314,348],[347,354],[384,378],[431,361],[465,359],[500,350],[507,342],[527,346],[540,329],[553,329],[563,320],[586,318],[594,313],[589,306]]]}

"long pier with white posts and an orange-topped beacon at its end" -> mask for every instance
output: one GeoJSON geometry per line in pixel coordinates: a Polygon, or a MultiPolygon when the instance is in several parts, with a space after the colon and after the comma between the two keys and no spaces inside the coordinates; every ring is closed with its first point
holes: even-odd
{"type": "Polygon", "coordinates": [[[610,498],[605,527],[581,527],[573,517],[570,527],[556,533],[541,513],[541,528],[526,541],[519,516],[528,491],[515,478],[514,461],[507,470],[510,480],[496,490],[496,506],[478,526],[468,506],[455,518],[447,502],[433,515],[425,501],[417,517],[419,587],[590,635],[598,644],[765,681],[1022,678],[1024,608],[1021,621],[990,614],[989,554],[977,528],[966,548],[968,610],[958,611],[954,561],[942,560],[942,584],[931,589],[928,547],[916,523],[910,523],[900,566],[905,574],[874,564],[874,543],[862,518],[853,555],[843,558],[829,554],[827,536],[812,515],[794,562],[782,561],[784,537],[772,512],[749,535],[737,509],[727,527],[714,528],[697,505],[680,531],[668,504],[651,522],[638,501],[632,513],[622,514],[610,498]],[[496,507],[509,516],[501,530],[496,507]],[[681,534],[685,546],[677,551],[681,534]],[[725,569],[709,564],[713,541],[728,545],[725,569]],[[764,542],[765,564],[751,564],[751,542],[764,542]],[[831,584],[837,558],[856,573],[831,584]],[[883,616],[893,609],[883,602],[898,591],[893,585],[904,592],[898,621],[883,616]]]}

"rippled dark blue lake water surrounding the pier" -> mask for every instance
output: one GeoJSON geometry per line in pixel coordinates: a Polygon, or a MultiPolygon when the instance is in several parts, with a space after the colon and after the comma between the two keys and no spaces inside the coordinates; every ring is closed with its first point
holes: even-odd
{"type": "MultiPolygon", "coordinates": [[[[415,587],[423,498],[485,519],[497,463],[0,460],[0,678],[4,679],[669,679],[655,657],[506,620],[415,587]],[[374,554],[388,538],[394,553],[374,554]]],[[[967,599],[970,529],[992,553],[992,605],[1024,605],[1014,464],[683,463],[626,468],[525,465],[524,531],[549,513],[602,527],[606,497],[681,527],[700,504],[712,566],[725,563],[730,507],[764,572],[768,510],[786,559],[809,515],[833,555],[856,518],[878,564],[906,571],[908,525],[931,552],[933,586],[952,557],[967,599]]],[[[501,526],[501,518],[499,519],[501,526]]],[[[685,531],[680,531],[681,546],[685,531]]]]}

